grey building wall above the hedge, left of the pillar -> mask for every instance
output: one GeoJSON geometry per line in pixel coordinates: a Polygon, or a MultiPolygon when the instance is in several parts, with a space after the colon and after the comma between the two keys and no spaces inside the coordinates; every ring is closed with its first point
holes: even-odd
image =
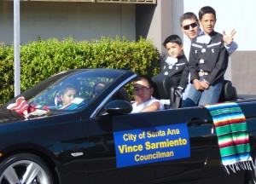
{"type": "MultiPolygon", "coordinates": [[[[13,3],[0,2],[0,43],[14,40],[13,3]]],[[[42,37],[91,40],[102,36],[136,39],[135,4],[20,3],[20,43],[42,37]]]]}

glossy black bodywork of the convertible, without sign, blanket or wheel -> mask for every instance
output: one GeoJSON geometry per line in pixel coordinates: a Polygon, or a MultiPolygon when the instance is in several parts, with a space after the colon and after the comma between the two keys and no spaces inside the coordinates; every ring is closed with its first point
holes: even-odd
{"type": "MultiPolygon", "coordinates": [[[[106,96],[117,91],[119,83],[132,75],[124,72],[95,104],[82,110],[54,112],[27,120],[17,118],[19,116],[13,112],[9,113],[9,118],[6,113],[0,113],[1,119],[9,119],[1,124],[3,156],[0,159],[14,152],[38,154],[49,167],[54,167],[50,169],[55,170],[60,183],[243,183],[244,171],[228,175],[220,164],[217,137],[206,108],[101,116],[102,101],[107,103],[106,96]],[[91,116],[94,113],[95,116],[91,116]],[[188,124],[190,158],[116,167],[113,131],[180,123],[188,124]]],[[[247,117],[251,149],[255,154],[256,102],[240,102],[239,105],[247,117]]]]}

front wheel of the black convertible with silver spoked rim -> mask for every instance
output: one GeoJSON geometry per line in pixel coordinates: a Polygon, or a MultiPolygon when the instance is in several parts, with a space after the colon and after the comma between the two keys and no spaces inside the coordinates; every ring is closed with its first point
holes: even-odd
{"type": "Polygon", "coordinates": [[[15,154],[0,164],[0,184],[52,184],[53,178],[44,161],[30,153],[15,154]]]}

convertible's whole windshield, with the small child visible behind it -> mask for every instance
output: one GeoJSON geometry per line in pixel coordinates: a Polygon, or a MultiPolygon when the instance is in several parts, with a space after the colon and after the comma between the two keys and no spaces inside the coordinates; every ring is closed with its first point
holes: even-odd
{"type": "Polygon", "coordinates": [[[73,110],[87,106],[113,81],[120,72],[77,72],[58,79],[26,101],[49,110],[73,110]]]}

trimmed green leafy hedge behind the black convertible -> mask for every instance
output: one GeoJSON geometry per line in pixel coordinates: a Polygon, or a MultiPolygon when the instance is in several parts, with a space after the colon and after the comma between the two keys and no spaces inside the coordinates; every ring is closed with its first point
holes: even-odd
{"type": "MultiPolygon", "coordinates": [[[[88,41],[48,39],[20,47],[20,89],[57,72],[73,68],[121,68],[154,76],[160,72],[160,53],[151,41],[102,37],[88,41]]],[[[14,47],[0,44],[0,106],[14,97],[14,47]]]]}

